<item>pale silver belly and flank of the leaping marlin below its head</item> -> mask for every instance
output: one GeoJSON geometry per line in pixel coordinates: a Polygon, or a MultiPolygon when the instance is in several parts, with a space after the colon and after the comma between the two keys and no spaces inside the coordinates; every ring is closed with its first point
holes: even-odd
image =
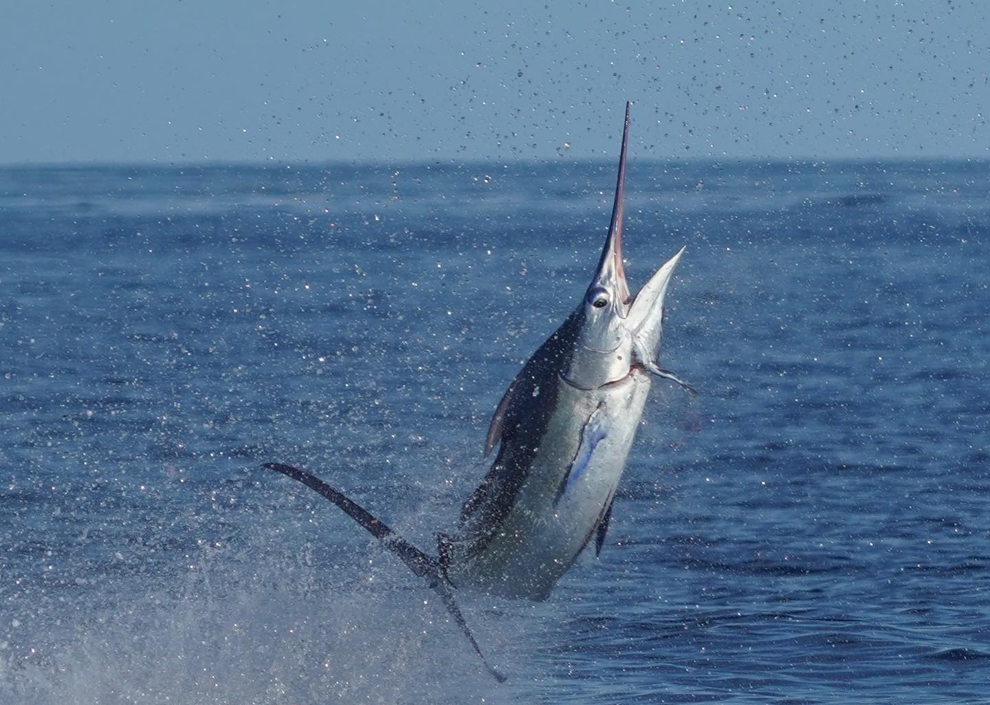
{"type": "MultiPolygon", "coordinates": [[[[501,522],[489,524],[490,507],[468,507],[463,534],[446,540],[446,575],[454,586],[533,600],[550,594],[612,506],[649,386],[649,376],[636,369],[597,389],[558,378],[557,404],[501,522]],[[606,432],[585,458],[582,440],[595,415],[606,419],[606,432]],[[568,485],[576,469],[580,475],[568,485]]],[[[511,455],[500,453],[496,467],[511,455]]],[[[499,495],[493,487],[491,501],[499,495]]]]}

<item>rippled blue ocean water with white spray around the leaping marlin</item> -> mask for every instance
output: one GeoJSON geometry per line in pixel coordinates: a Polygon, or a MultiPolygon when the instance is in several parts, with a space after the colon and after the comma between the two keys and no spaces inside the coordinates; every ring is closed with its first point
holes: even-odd
{"type": "Polygon", "coordinates": [[[576,305],[614,163],[0,169],[0,703],[966,703],[990,686],[986,162],[630,163],[687,245],[606,547],[432,550],[576,305]]]}

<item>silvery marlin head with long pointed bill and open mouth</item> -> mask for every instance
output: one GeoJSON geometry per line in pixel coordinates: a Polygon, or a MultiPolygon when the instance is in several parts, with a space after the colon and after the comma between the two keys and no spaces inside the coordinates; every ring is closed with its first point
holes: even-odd
{"type": "Polygon", "coordinates": [[[629,146],[629,109],[619,156],[619,178],[608,238],[594,277],[575,312],[579,329],[574,352],[563,371],[564,379],[582,389],[616,382],[640,367],[686,384],[656,365],[663,321],[663,297],[684,248],[661,266],[635,297],[623,265],[623,200],[626,187],[626,151],[629,146]]]}

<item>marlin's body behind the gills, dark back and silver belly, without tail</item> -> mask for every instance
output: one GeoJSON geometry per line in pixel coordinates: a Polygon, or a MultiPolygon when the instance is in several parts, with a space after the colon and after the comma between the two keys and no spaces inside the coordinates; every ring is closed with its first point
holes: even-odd
{"type": "Polygon", "coordinates": [[[542,600],[596,534],[601,551],[650,378],[634,368],[588,389],[568,381],[578,323],[569,318],[513,383],[490,434],[500,434],[495,462],[458,536],[439,539],[457,587],[542,600]]]}

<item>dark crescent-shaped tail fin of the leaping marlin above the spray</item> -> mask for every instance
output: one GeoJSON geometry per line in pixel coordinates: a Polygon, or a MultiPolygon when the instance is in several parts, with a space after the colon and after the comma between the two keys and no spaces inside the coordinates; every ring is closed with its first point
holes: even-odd
{"type": "Polygon", "coordinates": [[[446,611],[450,613],[450,616],[453,617],[453,621],[457,623],[457,626],[460,627],[460,630],[464,633],[464,636],[467,637],[467,641],[469,641],[471,646],[474,647],[474,651],[481,657],[481,662],[485,664],[485,668],[488,669],[488,672],[491,673],[500,683],[505,682],[506,676],[496,670],[488,662],[488,659],[485,658],[485,655],[481,653],[478,643],[474,640],[474,635],[471,634],[471,630],[467,626],[464,616],[457,607],[457,602],[453,598],[453,592],[445,581],[443,570],[441,569],[440,562],[437,558],[424,554],[422,551],[392,531],[384,523],[379,521],[366,509],[361,507],[356,502],[348,499],[343,492],[334,489],[319,477],[312,475],[305,470],[300,470],[298,467],[285,465],[281,462],[265,462],[261,466],[269,470],[281,472],[283,475],[287,475],[294,480],[298,480],[307,487],[319,492],[321,495],[344,510],[348,517],[367,529],[368,532],[380,541],[386,549],[391,551],[393,554],[398,555],[402,559],[402,562],[409,566],[410,570],[424,578],[431,589],[440,595],[441,599],[444,601],[446,611]]]}

